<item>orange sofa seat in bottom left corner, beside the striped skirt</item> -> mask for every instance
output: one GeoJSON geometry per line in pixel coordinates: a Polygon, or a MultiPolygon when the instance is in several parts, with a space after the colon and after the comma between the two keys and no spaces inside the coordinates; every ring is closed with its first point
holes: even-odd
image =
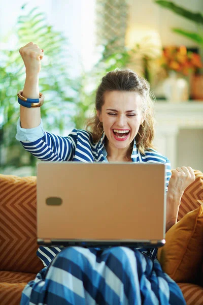
{"type": "Polygon", "coordinates": [[[33,273],[0,271],[0,304],[19,305],[25,285],[35,278],[33,273]]]}

